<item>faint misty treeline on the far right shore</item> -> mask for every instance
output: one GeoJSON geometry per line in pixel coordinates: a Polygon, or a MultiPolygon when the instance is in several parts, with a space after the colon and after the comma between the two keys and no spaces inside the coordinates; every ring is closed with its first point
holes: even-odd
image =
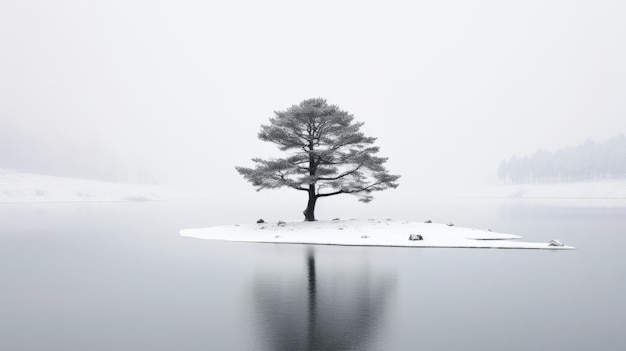
{"type": "Polygon", "coordinates": [[[532,156],[502,161],[498,177],[514,183],[553,183],[626,178],[626,137],[597,144],[588,139],[554,153],[539,150],[532,156]]]}

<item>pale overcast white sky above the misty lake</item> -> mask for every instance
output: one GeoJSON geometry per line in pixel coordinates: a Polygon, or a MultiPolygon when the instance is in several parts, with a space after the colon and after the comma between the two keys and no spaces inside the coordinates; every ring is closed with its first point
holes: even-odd
{"type": "Polygon", "coordinates": [[[0,168],[247,194],[234,166],[278,155],[259,126],[324,97],[404,192],[491,182],[513,154],[626,133],[625,18],[623,0],[0,0],[0,168]]]}

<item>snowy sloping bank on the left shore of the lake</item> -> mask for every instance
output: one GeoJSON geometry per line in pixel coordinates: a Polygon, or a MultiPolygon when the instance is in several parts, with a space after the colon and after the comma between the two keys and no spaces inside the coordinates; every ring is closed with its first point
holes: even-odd
{"type": "Polygon", "coordinates": [[[0,169],[0,203],[155,201],[180,197],[180,193],[156,185],[103,182],[0,169]]]}

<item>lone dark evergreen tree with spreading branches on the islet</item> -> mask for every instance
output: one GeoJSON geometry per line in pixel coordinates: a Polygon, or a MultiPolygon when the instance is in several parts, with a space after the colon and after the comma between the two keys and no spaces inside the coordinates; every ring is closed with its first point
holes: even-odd
{"type": "Polygon", "coordinates": [[[235,167],[257,191],[290,187],[308,194],[306,221],[315,220],[317,199],[352,194],[370,202],[374,191],[396,188],[400,176],[391,175],[377,157],[376,138],[360,132],[363,122],[325,99],[308,99],[274,112],[262,125],[259,139],[278,145],[285,158],[254,158],[254,168],[235,167]]]}

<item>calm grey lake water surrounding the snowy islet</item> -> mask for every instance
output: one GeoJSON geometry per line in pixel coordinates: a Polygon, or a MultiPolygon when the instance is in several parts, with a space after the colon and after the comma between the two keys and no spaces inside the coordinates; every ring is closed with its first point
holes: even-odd
{"type": "Polygon", "coordinates": [[[0,205],[0,350],[623,350],[626,206],[421,200],[576,251],[222,243],[210,203],[0,205]]]}

